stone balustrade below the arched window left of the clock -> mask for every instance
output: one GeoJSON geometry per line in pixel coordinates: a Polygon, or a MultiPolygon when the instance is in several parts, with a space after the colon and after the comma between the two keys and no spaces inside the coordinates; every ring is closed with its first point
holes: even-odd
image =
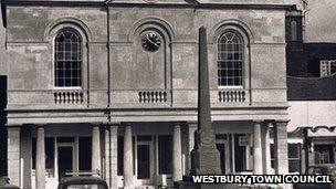
{"type": "Polygon", "coordinates": [[[53,93],[55,104],[83,104],[83,91],[56,91],[53,93]]]}

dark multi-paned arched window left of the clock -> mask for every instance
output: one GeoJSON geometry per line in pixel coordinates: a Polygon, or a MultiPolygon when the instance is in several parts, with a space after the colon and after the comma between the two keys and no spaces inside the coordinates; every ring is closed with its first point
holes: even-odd
{"type": "Polygon", "coordinates": [[[76,87],[82,84],[82,40],[72,29],[55,38],[55,86],[76,87]]]}

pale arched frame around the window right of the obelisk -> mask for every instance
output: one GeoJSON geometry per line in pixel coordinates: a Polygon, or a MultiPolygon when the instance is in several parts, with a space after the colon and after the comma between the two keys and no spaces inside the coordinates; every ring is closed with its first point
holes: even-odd
{"type": "Polygon", "coordinates": [[[222,29],[218,34],[217,34],[217,39],[214,41],[216,43],[216,67],[217,67],[217,86],[219,90],[231,90],[231,88],[237,88],[237,90],[242,90],[242,88],[246,88],[246,84],[248,84],[248,66],[245,65],[246,64],[246,60],[248,60],[248,56],[249,56],[249,50],[248,50],[248,44],[249,44],[249,40],[248,38],[243,34],[243,32],[241,30],[239,30],[238,28],[235,27],[232,27],[232,25],[228,25],[228,28],[224,28],[222,29]],[[218,62],[219,62],[219,41],[221,40],[221,38],[223,38],[223,35],[227,33],[227,32],[232,32],[234,33],[240,40],[241,40],[241,45],[242,45],[242,60],[240,60],[242,62],[242,67],[241,67],[241,72],[242,72],[242,75],[241,75],[241,85],[219,85],[219,73],[218,73],[218,62]]]}

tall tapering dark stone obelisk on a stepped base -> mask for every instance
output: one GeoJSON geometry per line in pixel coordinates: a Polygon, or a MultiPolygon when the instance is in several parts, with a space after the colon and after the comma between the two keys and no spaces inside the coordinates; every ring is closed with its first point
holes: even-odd
{"type": "Polygon", "coordinates": [[[211,126],[207,29],[199,29],[198,129],[192,150],[191,175],[219,175],[220,157],[211,126]]]}

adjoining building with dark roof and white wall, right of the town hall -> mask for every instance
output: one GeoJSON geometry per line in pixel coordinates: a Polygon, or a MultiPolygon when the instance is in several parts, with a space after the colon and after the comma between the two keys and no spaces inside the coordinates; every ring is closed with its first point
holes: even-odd
{"type": "Polygon", "coordinates": [[[302,174],[336,162],[336,44],[304,42],[303,25],[301,12],[287,13],[288,169],[302,174]]]}

